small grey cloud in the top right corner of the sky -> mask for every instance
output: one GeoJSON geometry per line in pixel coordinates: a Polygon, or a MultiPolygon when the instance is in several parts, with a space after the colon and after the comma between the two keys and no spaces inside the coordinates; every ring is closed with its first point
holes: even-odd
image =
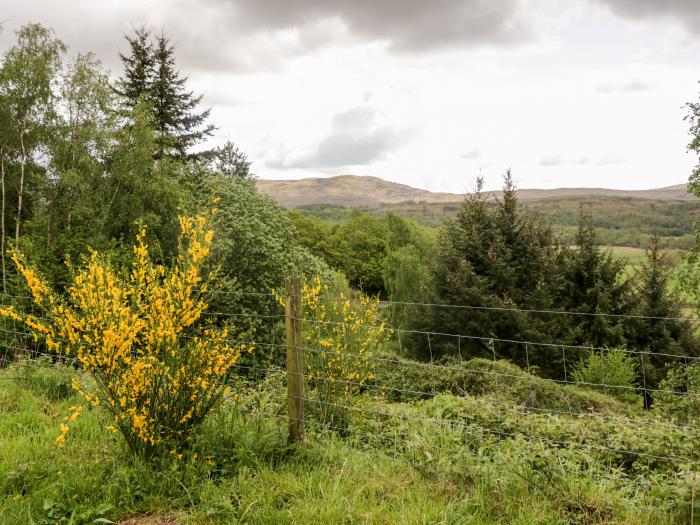
{"type": "Polygon", "coordinates": [[[593,0],[618,16],[635,20],[671,18],[688,33],[700,36],[700,8],[697,0],[593,0]]]}

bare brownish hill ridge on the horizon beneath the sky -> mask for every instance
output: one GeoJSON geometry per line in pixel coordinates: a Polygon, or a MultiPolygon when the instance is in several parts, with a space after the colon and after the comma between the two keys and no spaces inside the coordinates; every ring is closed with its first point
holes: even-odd
{"type": "MultiPolygon", "coordinates": [[[[463,195],[439,193],[406,184],[389,182],[377,177],[339,175],[328,178],[298,180],[258,180],[258,189],[287,208],[310,204],[378,208],[402,202],[450,203],[461,201],[463,195]]],[[[498,194],[499,192],[489,192],[498,194]]],[[[686,191],[685,184],[652,190],[611,190],[605,188],[519,189],[522,200],[550,197],[628,197],[635,199],[691,201],[696,198],[686,191]]]]}

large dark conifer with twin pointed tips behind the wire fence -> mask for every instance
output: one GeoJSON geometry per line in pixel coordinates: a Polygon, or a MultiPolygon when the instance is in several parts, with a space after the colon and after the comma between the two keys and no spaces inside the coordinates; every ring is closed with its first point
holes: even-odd
{"type": "MultiPolygon", "coordinates": [[[[551,342],[562,332],[561,316],[519,310],[553,309],[561,286],[558,246],[550,227],[519,213],[510,171],[500,200],[491,205],[477,181],[457,217],[438,239],[432,275],[432,302],[467,308],[428,307],[416,316],[417,328],[463,338],[432,337],[416,345],[431,353],[461,351],[497,356],[523,366],[525,347],[511,341],[551,342]],[[488,339],[494,341],[493,347],[488,339]]],[[[563,375],[561,352],[537,347],[529,356],[547,375],[563,375]]]]}

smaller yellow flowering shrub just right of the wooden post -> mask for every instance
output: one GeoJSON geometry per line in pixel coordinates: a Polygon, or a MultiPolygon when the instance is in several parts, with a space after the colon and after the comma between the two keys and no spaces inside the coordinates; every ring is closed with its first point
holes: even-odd
{"type": "Polygon", "coordinates": [[[304,283],[301,295],[307,406],[322,423],[344,430],[353,396],[374,378],[373,357],[386,340],[379,300],[336,293],[318,277],[304,283]]]}

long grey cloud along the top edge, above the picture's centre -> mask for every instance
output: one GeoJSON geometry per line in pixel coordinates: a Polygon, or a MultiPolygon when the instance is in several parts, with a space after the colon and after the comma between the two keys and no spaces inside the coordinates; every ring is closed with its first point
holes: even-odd
{"type": "MultiPolygon", "coordinates": [[[[531,37],[518,0],[207,0],[239,31],[304,28],[335,20],[397,51],[514,44],[531,37]]],[[[313,42],[311,42],[313,44],[313,42]]]]}

